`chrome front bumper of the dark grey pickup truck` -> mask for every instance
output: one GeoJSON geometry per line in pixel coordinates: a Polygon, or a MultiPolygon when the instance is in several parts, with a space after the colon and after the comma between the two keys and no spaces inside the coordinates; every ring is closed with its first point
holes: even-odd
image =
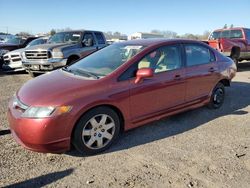
{"type": "Polygon", "coordinates": [[[61,68],[65,66],[67,63],[67,59],[48,59],[48,60],[41,60],[41,61],[34,61],[34,60],[24,60],[23,67],[28,72],[48,72],[55,70],[57,68],[61,68]]]}

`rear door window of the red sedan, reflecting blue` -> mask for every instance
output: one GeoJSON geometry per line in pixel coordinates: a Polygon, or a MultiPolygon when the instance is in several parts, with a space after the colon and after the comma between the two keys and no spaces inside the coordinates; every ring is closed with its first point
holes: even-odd
{"type": "Polygon", "coordinates": [[[215,61],[213,52],[204,46],[185,45],[187,66],[202,65],[215,61]]]}

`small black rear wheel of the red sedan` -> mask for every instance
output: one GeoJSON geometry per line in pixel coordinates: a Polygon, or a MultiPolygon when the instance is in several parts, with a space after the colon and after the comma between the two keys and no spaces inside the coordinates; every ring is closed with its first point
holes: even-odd
{"type": "Polygon", "coordinates": [[[213,89],[208,107],[210,109],[218,109],[222,106],[225,98],[225,87],[219,82],[213,89]]]}

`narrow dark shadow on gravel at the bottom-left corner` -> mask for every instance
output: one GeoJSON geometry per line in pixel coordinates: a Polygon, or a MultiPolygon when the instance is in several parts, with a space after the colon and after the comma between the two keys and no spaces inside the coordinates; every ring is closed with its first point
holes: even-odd
{"type": "Polygon", "coordinates": [[[6,186],[5,188],[14,188],[14,187],[43,187],[52,182],[55,182],[59,179],[62,179],[66,176],[69,176],[74,171],[73,168],[68,170],[63,170],[59,172],[53,172],[46,175],[42,175],[36,178],[25,180],[23,182],[15,183],[6,186]]]}

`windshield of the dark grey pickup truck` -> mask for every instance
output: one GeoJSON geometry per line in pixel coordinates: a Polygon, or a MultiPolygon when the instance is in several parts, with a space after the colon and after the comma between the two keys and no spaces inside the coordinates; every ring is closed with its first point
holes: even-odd
{"type": "Polygon", "coordinates": [[[80,32],[63,32],[54,34],[49,43],[78,43],[81,39],[80,32]]]}

